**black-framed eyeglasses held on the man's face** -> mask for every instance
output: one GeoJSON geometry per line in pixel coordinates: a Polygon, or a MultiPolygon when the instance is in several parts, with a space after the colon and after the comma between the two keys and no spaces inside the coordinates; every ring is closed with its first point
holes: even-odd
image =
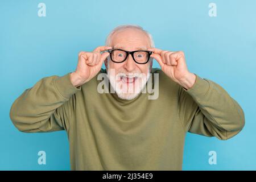
{"type": "Polygon", "coordinates": [[[131,57],[133,57],[135,63],[146,64],[150,59],[150,55],[152,54],[152,51],[125,51],[123,49],[108,49],[106,52],[110,53],[110,59],[114,63],[123,63],[129,54],[131,54],[131,57]]]}

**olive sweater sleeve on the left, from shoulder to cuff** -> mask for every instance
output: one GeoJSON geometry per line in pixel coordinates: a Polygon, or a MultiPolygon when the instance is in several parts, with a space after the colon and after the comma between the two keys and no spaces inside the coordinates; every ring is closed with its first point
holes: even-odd
{"type": "Polygon", "coordinates": [[[45,77],[14,101],[10,118],[14,126],[25,133],[68,130],[76,105],[76,88],[70,73],[45,77]]]}

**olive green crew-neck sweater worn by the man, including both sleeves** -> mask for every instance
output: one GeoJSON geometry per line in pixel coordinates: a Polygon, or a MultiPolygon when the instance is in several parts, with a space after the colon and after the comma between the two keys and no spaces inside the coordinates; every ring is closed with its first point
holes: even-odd
{"type": "Polygon", "coordinates": [[[15,100],[10,118],[26,133],[67,131],[72,170],[180,170],[187,131],[226,140],[242,130],[243,110],[220,85],[196,75],[185,90],[152,73],[156,100],[98,93],[97,76],[78,88],[70,73],[45,77],[15,100]]]}

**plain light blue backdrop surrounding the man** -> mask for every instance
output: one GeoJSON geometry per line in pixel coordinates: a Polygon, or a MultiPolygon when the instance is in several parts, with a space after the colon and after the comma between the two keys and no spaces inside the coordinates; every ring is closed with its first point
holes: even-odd
{"type": "MultiPolygon", "coordinates": [[[[189,71],[223,86],[245,111],[246,125],[227,141],[187,134],[184,170],[256,169],[256,1],[1,1],[0,169],[69,170],[65,131],[20,133],[10,106],[40,78],[76,68],[77,54],[104,45],[120,24],[139,24],[160,49],[185,52],[189,71]],[[38,4],[46,3],[46,17],[38,4]],[[209,17],[209,3],[217,17],[209,17]],[[46,151],[46,165],[38,151],[46,151]],[[208,152],[217,152],[209,165],[208,152]]],[[[154,67],[159,67],[154,61],[154,67]]]]}

